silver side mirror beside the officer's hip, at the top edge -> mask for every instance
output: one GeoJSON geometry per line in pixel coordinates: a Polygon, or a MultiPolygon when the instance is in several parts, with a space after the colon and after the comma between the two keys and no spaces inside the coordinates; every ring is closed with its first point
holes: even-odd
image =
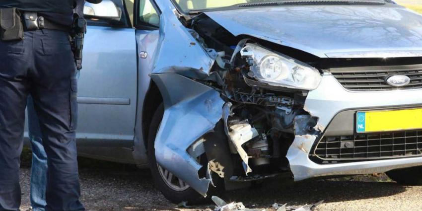
{"type": "Polygon", "coordinates": [[[86,2],[83,14],[88,18],[120,19],[121,11],[113,1],[103,0],[97,4],[86,2]]]}

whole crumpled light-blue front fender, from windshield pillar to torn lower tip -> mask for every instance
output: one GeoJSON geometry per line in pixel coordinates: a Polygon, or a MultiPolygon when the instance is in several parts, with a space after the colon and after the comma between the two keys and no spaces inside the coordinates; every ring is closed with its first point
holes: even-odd
{"type": "Polygon", "coordinates": [[[218,54],[204,48],[195,31],[183,26],[172,4],[157,3],[162,9],[159,45],[150,77],[163,97],[164,115],[155,139],[155,158],[163,168],[206,196],[212,183],[210,166],[207,176],[200,178],[202,165],[187,149],[214,129],[222,117],[224,101],[212,87],[191,78],[221,83],[221,78],[211,72],[218,54]]]}

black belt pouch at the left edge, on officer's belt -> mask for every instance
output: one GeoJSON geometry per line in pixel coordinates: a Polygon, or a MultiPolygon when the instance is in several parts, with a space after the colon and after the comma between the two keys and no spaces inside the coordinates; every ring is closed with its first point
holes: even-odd
{"type": "Polygon", "coordinates": [[[17,41],[23,39],[23,24],[16,8],[0,9],[1,41],[17,41]]]}

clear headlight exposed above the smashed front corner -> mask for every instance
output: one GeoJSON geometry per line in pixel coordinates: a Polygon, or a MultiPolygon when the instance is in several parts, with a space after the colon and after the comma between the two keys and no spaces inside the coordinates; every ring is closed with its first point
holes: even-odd
{"type": "Polygon", "coordinates": [[[257,44],[246,44],[240,54],[251,64],[249,75],[260,82],[302,90],[316,89],[321,82],[317,69],[257,44]]]}

